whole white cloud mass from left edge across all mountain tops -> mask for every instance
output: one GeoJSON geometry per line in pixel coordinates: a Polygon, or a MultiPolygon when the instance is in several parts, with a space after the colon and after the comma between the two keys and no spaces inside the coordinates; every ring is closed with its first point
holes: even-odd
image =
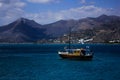
{"type": "Polygon", "coordinates": [[[94,5],[70,8],[57,12],[27,13],[23,10],[26,4],[20,0],[0,0],[0,25],[8,24],[20,17],[33,19],[40,24],[48,24],[58,20],[81,19],[86,17],[97,17],[102,14],[119,15],[120,11],[113,8],[101,8],[94,5]]]}

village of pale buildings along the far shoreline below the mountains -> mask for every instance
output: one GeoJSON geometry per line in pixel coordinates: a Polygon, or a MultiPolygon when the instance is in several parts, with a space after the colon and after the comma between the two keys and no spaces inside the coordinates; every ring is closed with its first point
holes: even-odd
{"type": "MultiPolygon", "coordinates": [[[[55,39],[41,39],[38,40],[37,43],[79,43],[79,44],[84,44],[84,43],[93,43],[93,38],[80,38],[80,37],[76,37],[74,35],[72,35],[71,37],[69,37],[69,35],[64,34],[62,37],[59,38],[55,38],[55,39]]],[[[110,40],[107,41],[106,43],[120,43],[120,40],[110,40]]]]}

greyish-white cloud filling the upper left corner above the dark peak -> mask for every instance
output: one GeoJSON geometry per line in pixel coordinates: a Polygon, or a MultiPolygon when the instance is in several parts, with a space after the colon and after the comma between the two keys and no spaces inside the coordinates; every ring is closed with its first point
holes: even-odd
{"type": "Polygon", "coordinates": [[[0,24],[4,25],[21,17],[26,4],[20,0],[0,0],[0,24]]]}

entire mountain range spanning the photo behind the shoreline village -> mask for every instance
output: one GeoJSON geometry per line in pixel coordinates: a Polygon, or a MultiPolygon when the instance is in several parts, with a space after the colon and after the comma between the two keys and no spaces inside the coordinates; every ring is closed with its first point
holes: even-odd
{"type": "Polygon", "coordinates": [[[24,43],[59,38],[68,34],[69,28],[80,38],[93,38],[92,42],[120,40],[120,17],[101,15],[80,20],[60,20],[46,25],[20,18],[0,27],[0,42],[24,43]]]}

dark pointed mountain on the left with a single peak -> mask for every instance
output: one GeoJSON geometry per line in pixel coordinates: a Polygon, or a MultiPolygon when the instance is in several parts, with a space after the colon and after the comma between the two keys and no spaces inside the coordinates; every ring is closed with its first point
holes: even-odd
{"type": "Polygon", "coordinates": [[[42,25],[33,20],[20,18],[13,23],[0,27],[0,42],[34,42],[46,36],[42,25]]]}

